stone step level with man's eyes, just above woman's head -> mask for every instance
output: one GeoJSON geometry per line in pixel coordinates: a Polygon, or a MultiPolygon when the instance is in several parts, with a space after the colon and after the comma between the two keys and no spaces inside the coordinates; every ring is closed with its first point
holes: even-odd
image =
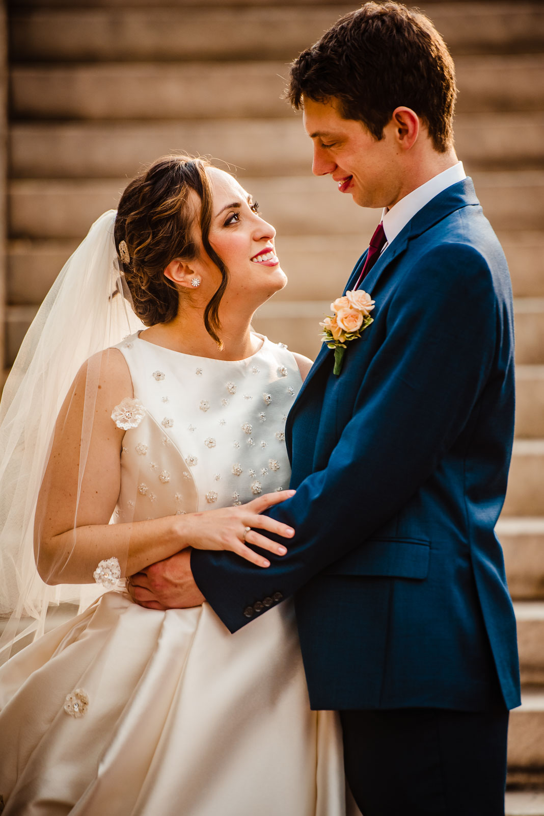
{"type": "MultiPolygon", "coordinates": [[[[303,175],[312,144],[301,117],[194,122],[15,122],[9,133],[12,178],[119,178],[176,151],[224,157],[242,175],[303,175]]],[[[467,172],[542,166],[544,113],[461,114],[458,157],[467,172]]]]}

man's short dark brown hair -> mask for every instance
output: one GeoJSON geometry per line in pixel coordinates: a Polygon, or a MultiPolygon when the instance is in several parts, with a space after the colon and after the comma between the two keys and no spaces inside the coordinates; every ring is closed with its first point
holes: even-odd
{"type": "Polygon", "coordinates": [[[301,109],[332,97],[345,119],[376,140],[394,109],[406,105],[428,127],[440,153],[453,144],[454,61],[431,20],[397,2],[366,2],[340,17],[292,63],[287,98],[301,109]]]}

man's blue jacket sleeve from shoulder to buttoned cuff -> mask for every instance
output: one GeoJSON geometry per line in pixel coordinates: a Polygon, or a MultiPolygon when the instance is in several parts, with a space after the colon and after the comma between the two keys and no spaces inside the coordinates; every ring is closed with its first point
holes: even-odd
{"type": "Polygon", "coordinates": [[[407,273],[388,313],[377,313],[386,337],[327,468],[270,509],[296,530],[287,555],[263,570],[230,553],[191,554],[197,585],[231,632],[248,623],[244,610],[256,601],[292,595],[388,521],[467,423],[508,319],[489,267],[471,247],[447,245],[407,273]]]}

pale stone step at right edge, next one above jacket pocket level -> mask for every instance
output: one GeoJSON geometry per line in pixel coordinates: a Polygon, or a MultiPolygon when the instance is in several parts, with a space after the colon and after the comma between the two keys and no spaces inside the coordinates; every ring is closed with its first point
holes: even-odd
{"type": "Polygon", "coordinates": [[[544,516],[544,439],[514,442],[505,516],[544,516]]]}

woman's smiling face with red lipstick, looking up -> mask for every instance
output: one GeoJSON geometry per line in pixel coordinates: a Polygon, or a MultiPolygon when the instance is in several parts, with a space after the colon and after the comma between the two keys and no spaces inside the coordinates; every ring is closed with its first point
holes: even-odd
{"type": "Polygon", "coordinates": [[[276,231],[231,175],[215,167],[207,172],[213,189],[209,242],[229,270],[223,300],[259,305],[287,282],[275,254],[276,231]]]}

